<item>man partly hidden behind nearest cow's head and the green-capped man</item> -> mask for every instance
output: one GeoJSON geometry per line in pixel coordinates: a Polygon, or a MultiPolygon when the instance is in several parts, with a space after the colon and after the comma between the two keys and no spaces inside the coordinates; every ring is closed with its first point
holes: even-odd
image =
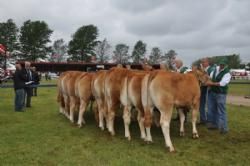
{"type": "MultiPolygon", "coordinates": [[[[215,70],[214,66],[209,64],[209,59],[204,58],[201,60],[201,68],[210,75],[212,71],[215,70]]],[[[206,115],[206,103],[208,96],[208,87],[204,84],[201,85],[201,97],[200,97],[200,125],[205,125],[207,123],[207,115],[206,115]]]]}

